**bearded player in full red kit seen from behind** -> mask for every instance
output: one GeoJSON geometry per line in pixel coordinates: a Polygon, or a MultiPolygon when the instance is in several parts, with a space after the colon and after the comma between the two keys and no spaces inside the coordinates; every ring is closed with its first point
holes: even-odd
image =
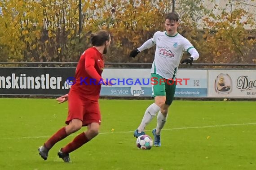
{"type": "Polygon", "coordinates": [[[102,78],[104,68],[103,54],[110,46],[110,34],[100,30],[91,35],[93,47],[88,48],[81,55],[75,71],[75,84],[68,94],[57,98],[59,103],[68,100],[68,116],[66,126],[59,129],[43,146],[39,147],[39,155],[47,160],[49,150],[58,141],[77,132],[82,126],[88,129],[74,138],[69,144],[61,148],[57,155],[65,162],[70,162],[69,153],[78,149],[99,133],[101,114],[98,99],[101,85],[108,85],[102,78]]]}

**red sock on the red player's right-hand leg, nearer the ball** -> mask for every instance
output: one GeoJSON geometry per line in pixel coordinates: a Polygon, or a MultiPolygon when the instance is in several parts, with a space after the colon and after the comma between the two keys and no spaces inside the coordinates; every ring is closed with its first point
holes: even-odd
{"type": "Polygon", "coordinates": [[[86,137],[85,133],[81,133],[78,136],[75,137],[75,139],[67,144],[64,148],[62,148],[63,153],[71,153],[75,149],[78,149],[81,147],[83,144],[87,143],[89,140],[86,137]]]}

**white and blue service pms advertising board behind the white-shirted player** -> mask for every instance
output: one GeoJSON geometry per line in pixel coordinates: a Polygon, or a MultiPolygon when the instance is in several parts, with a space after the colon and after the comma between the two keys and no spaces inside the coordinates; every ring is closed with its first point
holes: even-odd
{"type": "MultiPolygon", "coordinates": [[[[102,86],[101,96],[151,97],[150,69],[106,68],[102,77],[114,83],[102,86]]],[[[178,71],[175,97],[207,97],[207,70],[178,71]]]]}

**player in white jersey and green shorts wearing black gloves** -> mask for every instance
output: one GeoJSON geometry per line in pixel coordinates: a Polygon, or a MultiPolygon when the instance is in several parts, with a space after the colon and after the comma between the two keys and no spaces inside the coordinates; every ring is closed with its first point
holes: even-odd
{"type": "Polygon", "coordinates": [[[193,45],[177,32],[179,16],[177,13],[168,13],[165,17],[166,31],[157,31],[153,38],[150,38],[141,47],[131,51],[130,56],[135,57],[139,52],[156,45],[154,62],[151,68],[152,97],[151,104],[144,114],[139,127],[135,130],[134,136],[144,135],[145,127],[157,115],[157,126],[153,129],[154,145],[161,146],[160,132],[168,117],[168,108],[172,104],[175,89],[176,76],[181,58],[184,52],[190,53],[190,57],[181,61],[192,65],[192,62],[199,58],[199,53],[193,45]],[[162,79],[162,81],[160,81],[162,79]],[[168,80],[169,79],[169,80],[168,80]],[[171,79],[171,80],[170,80],[171,79]],[[164,80],[164,82],[163,82],[164,80]],[[156,83],[156,81],[158,81],[156,83]]]}

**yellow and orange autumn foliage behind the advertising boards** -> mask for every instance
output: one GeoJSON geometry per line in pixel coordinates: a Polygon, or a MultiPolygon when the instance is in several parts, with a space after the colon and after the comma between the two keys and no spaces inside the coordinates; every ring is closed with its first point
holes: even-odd
{"type": "MultiPolygon", "coordinates": [[[[178,31],[198,49],[198,62],[256,61],[252,55],[255,19],[246,10],[214,15],[200,0],[176,3],[181,17],[178,31]]],[[[77,62],[91,46],[90,34],[105,29],[113,39],[106,62],[150,63],[154,47],[135,59],[128,54],[157,30],[164,31],[164,14],[172,11],[172,1],[81,0],[79,4],[79,0],[1,0],[0,7],[0,61],[77,62]]]]}

